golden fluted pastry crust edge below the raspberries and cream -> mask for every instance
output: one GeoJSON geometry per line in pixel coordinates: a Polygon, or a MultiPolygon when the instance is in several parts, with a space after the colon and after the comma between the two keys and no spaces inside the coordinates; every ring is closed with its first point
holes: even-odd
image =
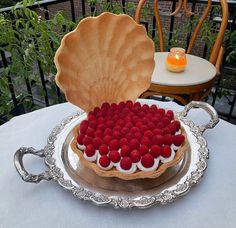
{"type": "Polygon", "coordinates": [[[157,178],[161,174],[163,174],[168,168],[177,165],[182,160],[182,158],[184,157],[184,154],[189,149],[189,143],[188,143],[186,132],[185,132],[184,128],[181,127],[181,133],[185,136],[185,141],[184,141],[183,145],[181,145],[179,147],[179,149],[177,150],[177,152],[175,153],[175,157],[174,157],[174,159],[172,161],[161,164],[154,171],[145,172],[145,171],[137,170],[134,173],[126,174],[126,173],[122,173],[122,172],[118,171],[114,167],[112,169],[110,169],[110,170],[103,170],[103,169],[99,168],[95,162],[87,161],[84,158],[84,156],[83,156],[83,152],[80,149],[78,149],[78,147],[77,147],[77,140],[76,140],[76,138],[78,136],[78,131],[79,131],[79,125],[77,125],[73,129],[74,138],[73,138],[73,140],[71,142],[72,150],[79,156],[80,163],[82,165],[84,165],[85,167],[87,167],[89,169],[92,169],[97,175],[102,176],[102,177],[117,177],[117,178],[120,178],[120,179],[123,179],[123,180],[134,180],[134,179],[144,179],[144,178],[157,178]]]}

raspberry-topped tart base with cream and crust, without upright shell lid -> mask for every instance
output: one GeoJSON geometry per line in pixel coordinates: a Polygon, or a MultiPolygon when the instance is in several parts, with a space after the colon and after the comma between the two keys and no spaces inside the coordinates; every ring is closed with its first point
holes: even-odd
{"type": "Polygon", "coordinates": [[[188,149],[173,111],[132,101],[96,107],[73,130],[73,151],[104,177],[156,178],[188,149]]]}

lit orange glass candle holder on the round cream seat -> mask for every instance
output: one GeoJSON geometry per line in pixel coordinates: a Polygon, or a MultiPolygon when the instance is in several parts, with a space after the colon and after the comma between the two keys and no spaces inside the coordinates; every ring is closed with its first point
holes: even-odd
{"type": "Polygon", "coordinates": [[[187,64],[185,49],[171,48],[166,59],[166,68],[172,72],[182,72],[187,64]]]}

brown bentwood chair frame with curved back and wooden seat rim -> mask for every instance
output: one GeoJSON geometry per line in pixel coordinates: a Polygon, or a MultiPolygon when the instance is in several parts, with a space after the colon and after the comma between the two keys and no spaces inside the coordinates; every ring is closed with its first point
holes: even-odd
{"type": "MultiPolygon", "coordinates": [[[[135,13],[135,21],[137,23],[140,23],[141,12],[145,3],[146,3],[146,0],[140,0],[138,3],[138,6],[136,8],[136,13],[135,13]]],[[[221,21],[218,34],[214,42],[214,45],[211,49],[210,57],[208,60],[213,65],[215,65],[217,74],[220,74],[220,65],[223,58],[223,54],[224,54],[222,41],[223,41],[224,33],[227,28],[227,23],[228,23],[227,0],[220,0],[220,4],[221,4],[221,9],[222,9],[222,21],[221,21]]],[[[170,16],[177,15],[182,7],[186,16],[193,15],[193,13],[187,7],[187,0],[178,0],[178,5],[175,11],[170,14],[170,16]]],[[[196,28],[192,32],[190,42],[186,51],[187,54],[191,54],[194,43],[200,32],[201,26],[204,20],[207,18],[211,10],[211,7],[212,7],[212,0],[208,0],[205,10],[201,18],[199,19],[196,28]]],[[[161,52],[163,52],[164,51],[164,35],[163,35],[162,22],[160,19],[160,13],[159,13],[159,8],[158,8],[158,0],[154,0],[154,14],[156,18],[156,26],[157,26],[157,31],[158,31],[159,49],[161,52]]],[[[177,101],[181,102],[182,104],[187,104],[191,100],[203,100],[204,98],[208,96],[209,92],[211,91],[215,78],[213,78],[211,81],[208,81],[206,83],[193,85],[193,86],[164,86],[164,85],[152,83],[150,88],[146,92],[144,92],[141,95],[141,97],[147,98],[152,95],[161,95],[161,96],[174,98],[177,101]]]]}

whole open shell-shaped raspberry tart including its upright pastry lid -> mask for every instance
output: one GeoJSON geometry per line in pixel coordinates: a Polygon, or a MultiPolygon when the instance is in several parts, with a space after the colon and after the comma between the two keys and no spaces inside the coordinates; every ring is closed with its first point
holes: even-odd
{"type": "Polygon", "coordinates": [[[99,176],[156,178],[188,150],[172,110],[136,102],[151,84],[154,51],[142,25],[103,13],[83,19],[55,55],[57,85],[87,112],[71,148],[99,176]]]}

